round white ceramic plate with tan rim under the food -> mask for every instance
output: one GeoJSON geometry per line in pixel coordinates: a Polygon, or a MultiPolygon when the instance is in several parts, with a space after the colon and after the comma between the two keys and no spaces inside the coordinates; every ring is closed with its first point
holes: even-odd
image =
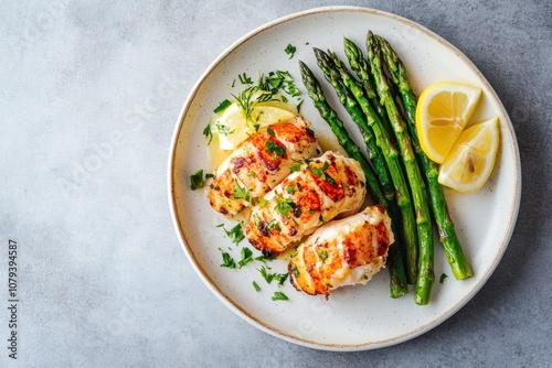
{"type": "MultiPolygon", "coordinates": [[[[344,57],[344,56],[343,56],[344,57]]],[[[306,94],[302,115],[312,122],[319,137],[331,136],[306,94]]],[[[328,96],[330,89],[328,89],[328,96]]],[[[330,102],[348,120],[331,98],[330,102]]],[[[348,122],[349,123],[349,122],[348,122]]],[[[351,127],[352,123],[351,123],[351,127]]],[[[354,128],[352,128],[354,130],[354,128]]],[[[357,138],[358,139],[358,138],[357,138]]],[[[169,158],[169,202],[178,236],[198,274],[219,299],[256,327],[277,337],[319,349],[363,350],[389,346],[413,338],[435,327],[468,302],[490,277],[505,252],[517,219],[521,188],[518,145],[508,115],[489,83],[458,50],[425,28],[381,11],[332,7],[314,9],[268,23],[231,45],[203,74],[192,89],[177,123],[169,158]],[[389,297],[388,272],[380,272],[367,286],[338,290],[329,300],[309,296],[286,282],[282,289],[266,284],[258,268],[222,268],[219,248],[233,249],[217,224],[234,223],[211,209],[205,191],[190,191],[189,176],[198,169],[212,171],[202,134],[213,109],[229,98],[237,75],[256,78],[259,72],[289,71],[302,88],[298,61],[319,73],[312,46],[330,48],[343,56],[343,36],[364,45],[368,30],[385,37],[405,63],[414,91],[436,80],[458,80],[482,88],[484,97],[474,120],[498,116],[501,145],[493,173],[482,190],[461,195],[446,192],[449,210],[474,277],[456,281],[436,241],[436,282],[427,306],[417,306],[413,293],[389,297]],[[284,52],[291,43],[293,58],[284,52]],[[439,277],[448,278],[439,283],[439,277]],[[255,292],[252,282],[262,288],[255,292]],[[273,301],[280,290],[289,301],[273,301]]],[[[241,246],[246,246],[244,240],[241,246]]],[[[256,253],[255,253],[256,255],[256,253]]],[[[286,272],[286,261],[270,263],[272,272],[286,272]]]]}

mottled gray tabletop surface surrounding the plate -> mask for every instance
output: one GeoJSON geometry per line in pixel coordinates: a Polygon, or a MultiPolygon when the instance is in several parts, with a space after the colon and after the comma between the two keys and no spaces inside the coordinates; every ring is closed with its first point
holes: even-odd
{"type": "Polygon", "coordinates": [[[552,8],[546,1],[342,1],[447,39],[512,119],[523,188],[511,243],[452,318],[373,351],[311,350],[234,315],[178,243],[166,191],[183,100],[227,45],[328,1],[78,0],[0,4],[0,366],[552,365],[552,8]],[[19,351],[8,359],[7,245],[19,245],[19,351]]]}

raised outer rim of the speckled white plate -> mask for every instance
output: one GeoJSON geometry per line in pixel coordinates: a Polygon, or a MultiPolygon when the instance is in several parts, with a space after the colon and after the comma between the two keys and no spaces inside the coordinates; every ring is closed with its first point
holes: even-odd
{"type": "Polygon", "coordinates": [[[167,174],[168,174],[168,199],[169,199],[169,206],[170,206],[170,212],[171,212],[171,218],[172,218],[180,245],[181,245],[184,253],[187,255],[190,263],[192,264],[193,269],[200,275],[200,278],[205,283],[205,285],[221,300],[221,302],[223,302],[224,305],[226,305],[234,313],[236,313],[238,316],[241,316],[242,318],[244,318],[246,322],[251,323],[255,327],[257,327],[257,328],[259,328],[259,329],[262,329],[262,331],[264,331],[273,336],[276,336],[278,338],[282,338],[284,340],[287,340],[287,342],[290,342],[294,344],[307,346],[310,348],[322,349],[322,350],[332,350],[332,351],[369,350],[369,349],[375,349],[375,348],[382,348],[382,347],[386,347],[386,346],[396,345],[396,344],[410,340],[412,338],[415,338],[415,337],[433,329],[434,327],[436,327],[437,325],[439,325],[444,321],[448,320],[452,315],[454,315],[468,301],[470,301],[475,294],[477,294],[477,292],[487,282],[487,280],[490,278],[490,275],[492,274],[492,272],[497,268],[498,263],[500,262],[500,260],[501,260],[501,258],[502,258],[502,256],[508,247],[508,243],[511,239],[512,231],[513,231],[517,218],[518,218],[520,199],[521,199],[521,163],[520,163],[519,148],[518,148],[518,143],[516,140],[513,127],[512,127],[512,123],[508,117],[508,113],[507,113],[503,105],[501,104],[500,99],[498,98],[498,95],[496,94],[493,88],[490,86],[490,84],[487,82],[487,79],[484,77],[484,75],[471,63],[471,61],[469,61],[469,58],[467,56],[465,56],[459,50],[457,50],[454,45],[448,43],[446,40],[444,40],[443,37],[437,35],[436,33],[424,28],[423,25],[421,25],[414,21],[411,21],[408,19],[393,14],[393,13],[389,13],[389,12],[384,12],[384,11],[380,11],[380,10],[374,10],[374,9],[370,9],[370,8],[363,8],[363,7],[348,7],[348,6],[321,7],[321,8],[314,8],[314,9],[300,11],[297,13],[293,13],[293,14],[279,18],[277,20],[274,20],[272,22],[268,22],[268,23],[251,31],[250,33],[245,34],[244,36],[242,36],[241,39],[235,41],[231,46],[229,46],[201,75],[201,77],[198,79],[198,82],[195,83],[195,85],[191,89],[191,91],[190,91],[190,94],[189,94],[189,96],[188,96],[188,98],[182,107],[182,110],[181,110],[180,116],[179,116],[178,121],[177,121],[177,126],[174,128],[171,145],[170,145],[169,160],[168,160],[168,173],[167,174]],[[253,317],[244,309],[242,309],[240,305],[229,301],[227,297],[224,295],[224,293],[217,288],[217,285],[213,282],[213,280],[210,278],[210,275],[204,272],[204,270],[200,267],[197,259],[194,258],[193,251],[190,249],[190,247],[188,245],[189,242],[187,241],[187,236],[185,236],[184,230],[181,226],[181,220],[179,219],[177,205],[176,205],[176,198],[174,198],[174,193],[176,193],[176,190],[174,190],[174,186],[176,186],[174,171],[176,171],[176,169],[174,167],[177,165],[176,150],[177,150],[177,145],[178,145],[178,139],[179,139],[180,132],[181,132],[182,127],[183,127],[183,121],[184,121],[187,111],[190,109],[190,106],[191,106],[194,97],[197,96],[198,91],[200,90],[201,86],[203,85],[203,82],[210,75],[210,73],[212,73],[213,69],[216,68],[225,59],[225,57],[229,56],[240,45],[242,45],[243,43],[245,43],[247,40],[252,39],[253,36],[257,35],[257,34],[259,34],[259,33],[262,33],[262,32],[264,32],[264,31],[266,31],[275,25],[279,25],[282,23],[285,23],[285,22],[288,22],[288,21],[291,21],[295,19],[299,19],[302,17],[316,14],[316,13],[331,13],[331,12],[343,12],[343,11],[344,12],[364,12],[364,13],[382,15],[382,17],[393,19],[395,21],[399,21],[399,22],[404,23],[411,28],[416,29],[417,31],[422,32],[426,36],[429,36],[429,37],[438,41],[439,43],[442,43],[443,45],[445,45],[449,50],[454,51],[456,53],[456,55],[463,59],[464,63],[466,63],[467,65],[470,66],[470,68],[473,69],[473,73],[475,73],[479,76],[480,80],[488,87],[488,90],[492,94],[491,97],[496,100],[496,104],[499,105],[500,110],[501,110],[500,112],[502,113],[502,116],[506,119],[506,121],[502,121],[502,123],[506,125],[506,128],[508,129],[509,133],[513,138],[512,139],[512,147],[510,149],[512,150],[513,156],[516,160],[516,163],[514,163],[516,177],[513,178],[514,180],[513,185],[514,185],[516,193],[514,193],[514,203],[512,204],[512,208],[511,208],[509,216],[508,216],[508,219],[507,219],[508,220],[508,231],[502,234],[500,241],[498,241],[499,248],[496,252],[496,257],[492,260],[492,262],[489,263],[488,268],[486,270],[484,270],[485,275],[480,279],[478,284],[476,284],[468,294],[466,294],[458,303],[456,303],[454,305],[454,307],[444,312],[438,318],[432,321],[431,323],[428,323],[426,325],[421,326],[416,331],[413,331],[413,332],[410,332],[410,333],[403,334],[403,335],[397,335],[391,339],[379,340],[379,342],[368,342],[367,344],[358,344],[358,345],[319,344],[319,343],[311,342],[308,339],[298,338],[297,336],[291,336],[291,335],[287,334],[286,332],[278,329],[275,326],[267,325],[263,321],[253,317]]]}

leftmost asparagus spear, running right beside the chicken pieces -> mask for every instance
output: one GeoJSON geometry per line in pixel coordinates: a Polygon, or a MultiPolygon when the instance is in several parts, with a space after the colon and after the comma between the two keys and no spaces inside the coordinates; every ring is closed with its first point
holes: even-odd
{"type": "MultiPolygon", "coordinates": [[[[339,119],[337,112],[329,106],[326,100],[326,96],[323,95],[322,88],[318,80],[316,79],[312,72],[308,68],[308,66],[299,61],[299,68],[302,76],[302,83],[308,90],[310,98],[312,99],[315,107],[318,109],[320,116],[328,122],[331,130],[338,138],[339,144],[346,150],[346,152],[353,159],[358,160],[364,171],[367,176],[367,186],[372,198],[383,205],[388,212],[390,217],[392,218],[392,230],[394,234],[399,234],[396,231],[396,223],[397,218],[393,214],[390,207],[390,204],[380,188],[378,183],[378,178],[370,166],[368,160],[360,152],[359,147],[352,141],[349,137],[343,122],[339,119]]],[[[392,297],[397,297],[404,295],[408,292],[408,288],[406,285],[406,277],[404,273],[404,264],[402,262],[402,258],[396,249],[400,249],[400,237],[395,239],[395,247],[390,247],[390,253],[388,256],[388,267],[390,269],[390,294],[392,297]]]]}

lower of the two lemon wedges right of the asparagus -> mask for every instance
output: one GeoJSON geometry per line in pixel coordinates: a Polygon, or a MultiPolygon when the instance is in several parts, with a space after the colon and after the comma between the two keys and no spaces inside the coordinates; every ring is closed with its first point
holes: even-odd
{"type": "Polygon", "coordinates": [[[479,190],[492,172],[499,142],[498,118],[464,130],[439,167],[438,182],[461,193],[479,190]]]}

